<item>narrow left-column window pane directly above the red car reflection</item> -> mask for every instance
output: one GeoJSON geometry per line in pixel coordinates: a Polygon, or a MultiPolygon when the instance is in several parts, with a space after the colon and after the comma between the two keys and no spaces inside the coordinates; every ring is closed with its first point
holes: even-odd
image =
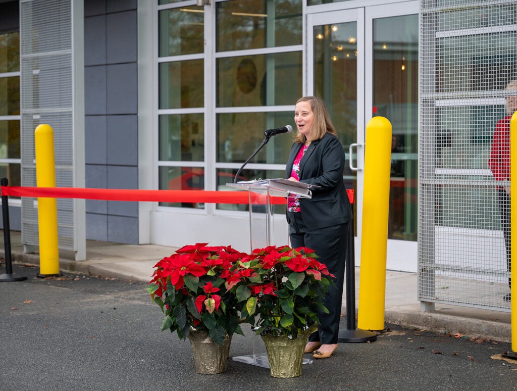
{"type": "Polygon", "coordinates": [[[204,115],[174,114],[159,117],[159,159],[204,160],[204,115]]]}

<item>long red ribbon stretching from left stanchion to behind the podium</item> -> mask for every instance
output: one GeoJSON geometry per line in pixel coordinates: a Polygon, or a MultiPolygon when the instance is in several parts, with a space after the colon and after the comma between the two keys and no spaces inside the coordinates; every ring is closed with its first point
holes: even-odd
{"type": "MultiPolygon", "coordinates": [[[[248,191],[87,189],[74,187],[2,186],[2,196],[80,198],[105,201],[154,201],[215,204],[249,204],[248,191]]],[[[252,203],[265,204],[265,196],[251,193],[252,203]]],[[[271,197],[271,204],[285,204],[283,197],[271,197]]]]}

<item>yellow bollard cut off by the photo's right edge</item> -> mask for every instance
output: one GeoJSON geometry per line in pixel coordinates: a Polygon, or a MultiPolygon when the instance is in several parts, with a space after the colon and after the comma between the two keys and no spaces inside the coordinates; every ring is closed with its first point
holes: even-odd
{"type": "Polygon", "coordinates": [[[517,238],[515,233],[517,232],[517,198],[511,193],[513,189],[517,189],[517,137],[515,136],[515,132],[517,132],[517,111],[513,113],[512,118],[510,119],[510,277],[512,279],[512,286],[510,287],[511,293],[511,333],[512,333],[512,351],[515,352],[514,347],[517,347],[517,291],[515,290],[515,283],[517,283],[517,263],[515,263],[515,258],[517,257],[517,240],[513,240],[517,238]]]}

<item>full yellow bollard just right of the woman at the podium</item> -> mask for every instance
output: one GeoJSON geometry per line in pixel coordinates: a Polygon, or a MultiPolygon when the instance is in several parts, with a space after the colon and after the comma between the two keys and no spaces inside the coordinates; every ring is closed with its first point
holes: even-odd
{"type": "Polygon", "coordinates": [[[373,117],[366,126],[357,327],[384,329],[388,246],[391,123],[373,117]]]}

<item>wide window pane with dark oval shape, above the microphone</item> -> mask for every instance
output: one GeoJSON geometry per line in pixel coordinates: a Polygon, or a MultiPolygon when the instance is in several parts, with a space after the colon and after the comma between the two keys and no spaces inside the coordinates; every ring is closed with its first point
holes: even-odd
{"type": "Polygon", "coordinates": [[[217,107],[295,104],[302,93],[302,53],[217,60],[217,107]]]}

